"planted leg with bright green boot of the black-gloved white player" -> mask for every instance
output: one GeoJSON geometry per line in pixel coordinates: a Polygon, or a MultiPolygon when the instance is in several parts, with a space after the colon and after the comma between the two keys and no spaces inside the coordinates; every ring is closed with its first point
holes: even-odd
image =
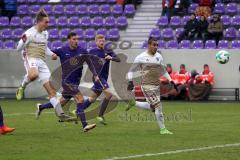
{"type": "Polygon", "coordinates": [[[160,127],[160,134],[172,134],[168,131],[164,124],[164,115],[162,112],[162,104],[160,102],[160,87],[154,85],[143,85],[142,91],[147,102],[155,109],[154,113],[160,127]]]}

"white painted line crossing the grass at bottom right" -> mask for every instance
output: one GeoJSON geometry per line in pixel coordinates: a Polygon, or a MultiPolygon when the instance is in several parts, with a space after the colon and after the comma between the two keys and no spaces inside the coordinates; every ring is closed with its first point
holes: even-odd
{"type": "Polygon", "coordinates": [[[147,153],[147,154],[126,156],[126,157],[113,157],[113,158],[108,158],[104,160],[133,159],[133,158],[152,157],[152,156],[159,156],[159,155],[171,155],[171,154],[177,154],[177,153],[186,153],[186,152],[203,151],[203,150],[211,150],[211,149],[226,148],[226,147],[238,147],[238,146],[240,146],[240,143],[223,144],[223,145],[215,145],[215,146],[200,147],[200,148],[190,148],[190,149],[182,149],[182,150],[159,152],[159,153],[147,153]]]}

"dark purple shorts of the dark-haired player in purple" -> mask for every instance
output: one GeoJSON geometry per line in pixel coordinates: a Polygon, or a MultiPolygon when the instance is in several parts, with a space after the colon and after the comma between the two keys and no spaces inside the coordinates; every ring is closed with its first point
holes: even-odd
{"type": "Polygon", "coordinates": [[[78,89],[77,84],[71,84],[71,83],[62,83],[62,96],[64,99],[71,99],[72,97],[76,96],[78,93],[80,93],[78,89]]]}

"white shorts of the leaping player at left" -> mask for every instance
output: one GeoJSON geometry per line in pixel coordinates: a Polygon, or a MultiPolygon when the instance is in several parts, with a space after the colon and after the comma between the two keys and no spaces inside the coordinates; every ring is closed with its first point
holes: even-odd
{"type": "Polygon", "coordinates": [[[37,68],[38,69],[38,80],[45,84],[49,81],[51,73],[47,66],[47,64],[40,58],[32,58],[32,57],[24,57],[24,66],[28,74],[28,70],[30,68],[37,68]]]}

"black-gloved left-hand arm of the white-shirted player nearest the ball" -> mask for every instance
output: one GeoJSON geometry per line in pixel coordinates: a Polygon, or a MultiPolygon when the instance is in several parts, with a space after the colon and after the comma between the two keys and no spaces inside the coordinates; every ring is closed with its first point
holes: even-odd
{"type": "Polygon", "coordinates": [[[140,61],[139,58],[135,58],[129,72],[127,73],[127,79],[128,79],[128,87],[127,90],[131,91],[134,88],[134,84],[133,84],[133,73],[138,71],[140,68],[140,61]]]}

